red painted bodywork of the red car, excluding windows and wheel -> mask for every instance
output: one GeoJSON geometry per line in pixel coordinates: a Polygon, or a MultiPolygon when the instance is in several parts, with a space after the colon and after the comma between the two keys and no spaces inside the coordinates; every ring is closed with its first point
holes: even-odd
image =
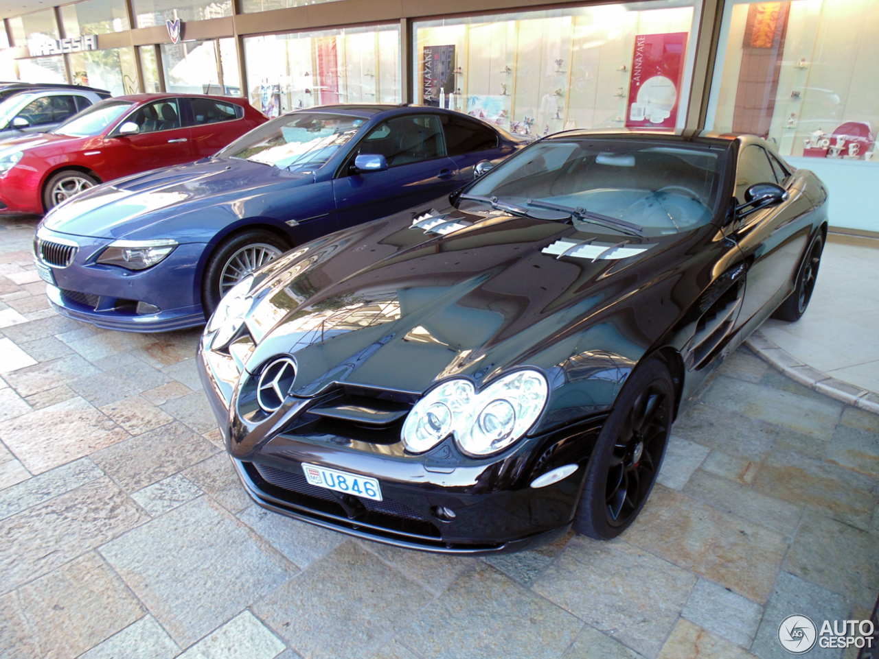
{"type": "Polygon", "coordinates": [[[246,98],[206,97],[197,94],[140,94],[115,97],[130,101],[131,108],[94,137],[40,133],[0,142],[0,150],[20,146],[21,160],[0,175],[0,212],[41,215],[46,209],[43,192],[49,178],[65,168],[82,169],[101,183],[149,169],[173,167],[213,155],[244,133],[268,120],[246,98]],[[243,118],[204,125],[109,137],[144,104],[163,98],[212,98],[243,108],[243,118]]]}

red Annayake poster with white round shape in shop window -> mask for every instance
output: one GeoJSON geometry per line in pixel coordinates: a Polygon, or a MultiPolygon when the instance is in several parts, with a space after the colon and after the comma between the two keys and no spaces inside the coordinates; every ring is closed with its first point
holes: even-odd
{"type": "Polygon", "coordinates": [[[628,82],[628,127],[674,128],[686,36],[686,32],[636,35],[628,82]]]}

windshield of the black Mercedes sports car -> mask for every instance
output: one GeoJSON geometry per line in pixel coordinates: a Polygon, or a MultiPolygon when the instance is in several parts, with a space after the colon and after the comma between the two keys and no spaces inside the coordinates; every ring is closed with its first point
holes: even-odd
{"type": "Polygon", "coordinates": [[[527,209],[576,209],[575,225],[593,230],[603,216],[645,235],[679,233],[714,218],[725,154],[694,143],[547,140],[479,179],[461,206],[479,203],[467,196],[498,197],[527,209]]]}

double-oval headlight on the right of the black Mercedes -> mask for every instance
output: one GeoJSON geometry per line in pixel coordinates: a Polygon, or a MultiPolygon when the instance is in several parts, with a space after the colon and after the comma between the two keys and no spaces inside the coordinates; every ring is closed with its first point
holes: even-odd
{"type": "Polygon", "coordinates": [[[476,393],[469,380],[448,380],[418,401],[403,424],[403,445],[424,453],[454,433],[467,455],[497,453],[519,440],[543,412],[546,378],[518,370],[476,393]]]}

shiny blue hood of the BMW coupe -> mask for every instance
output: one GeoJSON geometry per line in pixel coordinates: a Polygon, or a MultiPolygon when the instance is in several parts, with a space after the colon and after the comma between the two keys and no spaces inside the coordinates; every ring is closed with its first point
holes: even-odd
{"type": "Polygon", "coordinates": [[[155,169],[85,190],[56,206],[43,222],[59,233],[120,239],[133,233],[167,238],[169,224],[190,211],[314,183],[314,175],[290,173],[238,159],[211,158],[179,167],[155,169]]]}

